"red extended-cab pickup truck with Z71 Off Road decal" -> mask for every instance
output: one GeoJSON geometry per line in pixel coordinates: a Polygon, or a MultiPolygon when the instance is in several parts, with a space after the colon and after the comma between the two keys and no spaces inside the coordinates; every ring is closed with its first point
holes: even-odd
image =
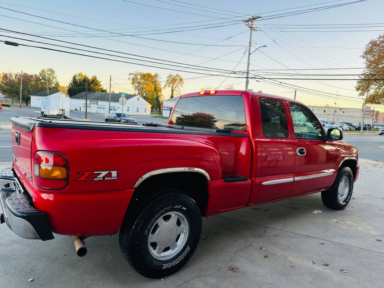
{"type": "Polygon", "coordinates": [[[339,129],[325,131],[299,101],[252,91],[182,95],[167,125],[11,121],[1,222],[23,238],[75,236],[79,256],[84,238],[119,232],[127,262],[151,278],[189,260],[201,216],[315,192],[343,209],[359,174],[339,129]]]}

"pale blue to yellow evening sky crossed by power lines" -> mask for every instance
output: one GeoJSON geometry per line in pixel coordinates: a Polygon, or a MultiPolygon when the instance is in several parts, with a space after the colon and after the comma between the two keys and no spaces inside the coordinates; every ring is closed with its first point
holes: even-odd
{"type": "MultiPolygon", "coordinates": [[[[7,33],[0,30],[0,40],[17,41],[27,45],[49,47],[57,50],[131,62],[122,63],[29,46],[15,47],[0,44],[0,73],[7,71],[20,72],[21,70],[26,73],[38,73],[41,69],[50,67],[56,71],[60,84],[68,85],[74,74],[82,72],[88,76],[96,75],[102,81],[103,87],[108,91],[109,75],[111,75],[111,89],[115,92],[126,93],[134,92],[128,79],[129,73],[135,71],[159,73],[162,81],[165,81],[169,73],[179,73],[185,81],[184,87],[181,89],[182,94],[200,91],[203,87],[223,89],[233,85],[235,89],[244,89],[245,79],[242,77],[245,74],[239,71],[245,71],[247,68],[247,48],[250,29],[240,20],[246,19],[250,15],[259,14],[263,18],[254,22],[254,26],[258,31],[252,33],[251,51],[262,45],[266,45],[266,47],[261,47],[252,53],[250,57],[251,73],[258,75],[259,78],[280,77],[290,79],[278,81],[250,79],[248,89],[293,98],[295,88],[291,85],[296,85],[298,89],[296,91],[296,99],[307,105],[323,106],[328,104],[333,106],[336,101],[339,107],[361,108],[362,99],[357,98],[358,93],[354,90],[356,81],[311,80],[308,77],[335,79],[340,76],[321,76],[321,74],[361,73],[362,69],[339,70],[339,68],[364,67],[364,62],[360,57],[364,46],[371,39],[377,38],[377,36],[384,33],[384,26],[376,24],[383,24],[382,22],[384,22],[382,17],[384,1],[366,0],[340,7],[308,13],[297,12],[301,14],[281,17],[288,15],[281,15],[282,13],[328,5],[339,5],[352,1],[67,0],[64,2],[0,0],[0,28],[3,29],[158,59],[151,60],[145,58],[154,62],[168,60],[178,62],[179,64],[173,64],[179,66],[204,66],[203,68],[195,66],[195,68],[200,70],[169,67],[164,65],[164,62],[162,64],[145,63],[151,67],[141,66],[137,64],[139,63],[137,56],[119,54],[120,56],[134,59],[111,56],[111,54],[116,55],[117,53],[76,46],[55,40],[39,39],[30,35],[7,33]],[[301,7],[307,5],[313,6],[301,7]],[[285,10],[288,8],[292,9],[285,10]],[[277,14],[279,15],[273,16],[277,14]],[[72,25],[62,22],[71,23],[72,25]],[[217,24],[215,25],[214,23],[217,24]],[[370,25],[371,23],[375,24],[370,25]],[[207,24],[211,25],[207,26],[207,24]],[[341,27],[341,24],[351,28],[336,28],[341,27]],[[358,27],[356,24],[369,24],[365,26],[376,27],[354,28],[358,27]],[[300,28],[300,26],[296,25],[303,26],[300,28]],[[212,26],[218,27],[207,28],[212,26]],[[176,28],[178,30],[175,30],[176,28]],[[204,29],[192,30],[197,28],[204,29]],[[381,31],[347,32],[344,30],[381,31]],[[50,46],[45,43],[32,43],[25,40],[12,39],[9,36],[99,51],[109,55],[97,55],[88,51],[71,50],[70,48],[50,46]],[[138,38],[137,36],[146,39],[138,38]],[[169,41],[183,43],[172,43],[169,41]],[[157,66],[157,68],[154,66],[157,66]],[[324,68],[331,68],[331,70],[315,70],[324,68]],[[264,71],[255,71],[262,69],[264,71]],[[265,69],[268,71],[265,71],[265,69]],[[303,71],[298,69],[314,70],[303,71]],[[228,71],[237,71],[237,73],[229,73],[228,71]],[[197,74],[197,72],[214,75],[220,74],[220,76],[197,74]],[[281,72],[289,74],[285,76],[273,74],[281,72]],[[303,76],[300,73],[319,75],[303,76]],[[305,80],[295,78],[303,78],[305,80]],[[289,88],[276,86],[278,82],[290,84],[289,88]],[[303,89],[306,92],[300,91],[303,89]],[[308,93],[309,91],[312,91],[314,94],[308,93]],[[338,95],[337,99],[336,94],[338,95]]],[[[356,79],[358,76],[346,75],[343,78],[356,79]]],[[[283,83],[280,83],[280,85],[286,86],[283,83]]],[[[169,88],[163,89],[163,94],[164,99],[169,98],[169,88]]],[[[384,107],[376,108],[376,110],[380,109],[384,111],[384,107]]]]}

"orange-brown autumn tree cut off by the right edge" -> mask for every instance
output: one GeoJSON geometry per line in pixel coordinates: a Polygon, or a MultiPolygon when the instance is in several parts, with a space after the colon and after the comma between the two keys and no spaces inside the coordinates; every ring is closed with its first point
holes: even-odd
{"type": "Polygon", "coordinates": [[[357,81],[355,89],[361,97],[366,97],[368,92],[366,103],[382,105],[384,104],[384,68],[382,68],[384,67],[384,34],[369,41],[360,57],[364,59],[366,68],[359,76],[360,80],[357,81]],[[372,78],[380,80],[366,80],[372,78]]]}

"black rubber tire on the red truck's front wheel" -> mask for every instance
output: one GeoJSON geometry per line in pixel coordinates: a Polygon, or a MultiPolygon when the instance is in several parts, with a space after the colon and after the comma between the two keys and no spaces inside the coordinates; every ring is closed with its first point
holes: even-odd
{"type": "Polygon", "coordinates": [[[334,210],[341,210],[348,205],[349,200],[351,200],[351,197],[352,197],[352,192],[353,192],[352,170],[349,167],[341,167],[341,169],[339,169],[339,172],[331,188],[329,190],[321,192],[321,200],[323,200],[323,204],[326,207],[334,210]],[[348,183],[349,187],[348,187],[348,193],[346,193],[345,196],[342,197],[342,199],[340,199],[338,195],[338,191],[339,191],[339,185],[344,185],[344,183],[341,183],[342,179],[343,181],[349,182],[348,183]]]}

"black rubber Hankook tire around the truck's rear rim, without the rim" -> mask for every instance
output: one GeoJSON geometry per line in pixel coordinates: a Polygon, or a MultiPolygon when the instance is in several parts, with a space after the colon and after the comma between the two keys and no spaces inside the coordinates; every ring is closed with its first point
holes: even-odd
{"type": "MultiPolygon", "coordinates": [[[[174,273],[188,262],[199,243],[201,226],[201,213],[193,199],[179,190],[162,191],[142,203],[133,216],[127,215],[127,219],[124,219],[119,233],[120,249],[125,260],[138,273],[148,278],[161,278],[174,273]],[[170,212],[177,212],[185,217],[188,233],[184,244],[180,245],[172,258],[157,259],[151,254],[153,252],[149,245],[152,243],[149,244],[148,239],[154,229],[158,229],[160,234],[161,229],[155,228],[157,220],[166,220],[170,212]]],[[[176,236],[176,241],[180,240],[181,235],[176,236]]]]}

